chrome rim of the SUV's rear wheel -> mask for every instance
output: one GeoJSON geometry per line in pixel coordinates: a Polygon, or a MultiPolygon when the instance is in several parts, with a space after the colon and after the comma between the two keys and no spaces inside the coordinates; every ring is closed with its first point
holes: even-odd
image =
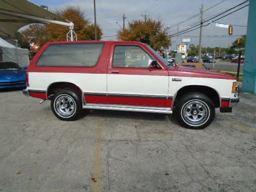
{"type": "Polygon", "coordinates": [[[71,96],[62,94],[55,99],[54,109],[59,116],[69,118],[76,112],[76,102],[71,96]]]}

